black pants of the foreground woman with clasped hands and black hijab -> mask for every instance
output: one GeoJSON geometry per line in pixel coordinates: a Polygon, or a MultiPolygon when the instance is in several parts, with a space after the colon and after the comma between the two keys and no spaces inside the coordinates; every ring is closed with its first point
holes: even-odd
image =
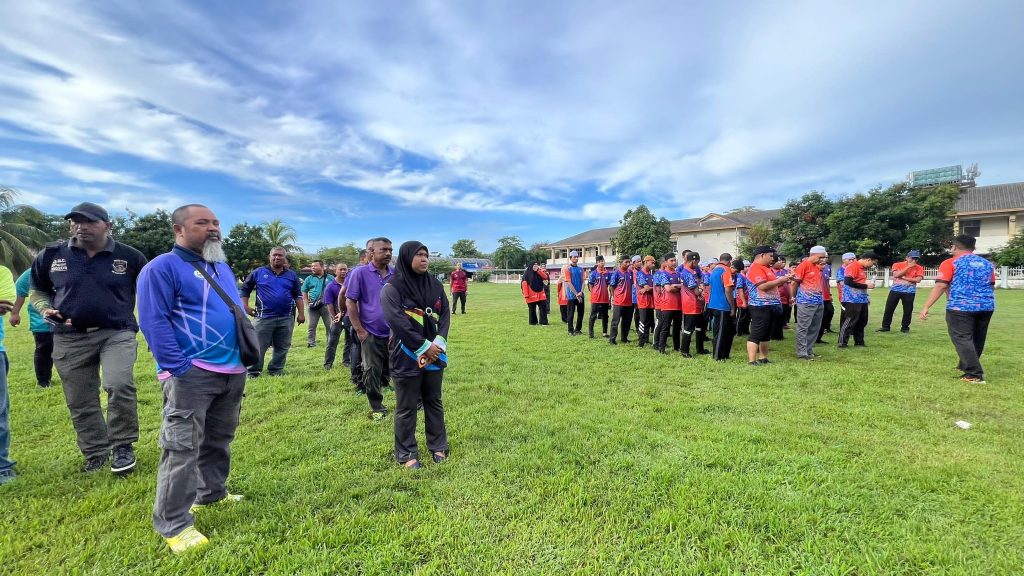
{"type": "Polygon", "coordinates": [[[430,453],[447,454],[447,430],[444,427],[444,405],[441,403],[443,370],[421,370],[416,376],[394,379],[394,457],[399,463],[420,458],[416,443],[416,413],[423,399],[424,428],[430,453]]]}

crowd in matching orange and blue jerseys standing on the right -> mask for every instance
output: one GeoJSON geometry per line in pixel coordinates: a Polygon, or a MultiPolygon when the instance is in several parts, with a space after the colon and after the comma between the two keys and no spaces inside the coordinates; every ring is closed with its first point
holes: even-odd
{"type": "MultiPolygon", "coordinates": [[[[961,359],[962,380],[984,382],[979,358],[994,310],[995,276],[991,262],[974,254],[974,248],[973,237],[953,240],[953,255],[939,268],[936,288],[921,318],[927,319],[939,297],[948,296],[947,325],[961,359]]],[[[635,255],[622,258],[614,269],[606,268],[599,255],[595,266],[585,271],[579,257],[578,252],[569,252],[568,263],[557,280],[562,321],[570,336],[583,334],[588,293],[591,338],[597,322],[610,344],[630,342],[630,330],[635,328],[638,347],[649,344],[660,354],[669,354],[671,340],[672,352],[683,358],[693,358],[695,353],[728,360],[735,336],[745,335],[748,363],[770,364],[770,342],[784,339],[783,331],[793,315],[796,357],[813,361],[819,358],[814,345],[825,343],[822,337],[831,332],[831,265],[824,246],[812,247],[792,268],[786,268],[785,259],[771,246],[755,248],[750,261],[734,259],[728,253],[701,261],[698,253],[685,250],[681,260],[675,253],[663,255],[659,262],[651,255],[635,255]]],[[[910,331],[914,294],[925,278],[920,258],[921,253],[911,250],[904,261],[892,266],[892,288],[879,332],[891,330],[899,305],[903,307],[900,331],[910,331]]],[[[868,290],[874,288],[867,271],[878,261],[878,254],[869,251],[842,256],[836,275],[841,307],[839,348],[849,347],[851,339],[854,346],[866,346],[868,290]]],[[[522,293],[531,325],[547,324],[548,283],[548,272],[538,262],[524,271],[522,293]]]]}

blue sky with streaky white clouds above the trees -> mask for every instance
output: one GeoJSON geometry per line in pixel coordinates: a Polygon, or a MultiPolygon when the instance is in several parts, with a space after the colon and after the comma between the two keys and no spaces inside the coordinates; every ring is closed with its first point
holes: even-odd
{"type": "Polygon", "coordinates": [[[0,184],[447,253],[1024,180],[1024,2],[0,0],[0,184]]]}

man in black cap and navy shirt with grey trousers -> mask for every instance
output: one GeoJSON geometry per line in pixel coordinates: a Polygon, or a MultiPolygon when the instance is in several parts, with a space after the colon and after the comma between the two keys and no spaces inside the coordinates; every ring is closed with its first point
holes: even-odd
{"type": "Polygon", "coordinates": [[[85,456],[82,471],[103,467],[113,449],[111,471],[124,475],[135,467],[132,444],[138,440],[135,280],[146,259],[111,238],[111,218],[101,206],[83,202],[65,218],[73,236],[48,244],[36,257],[29,299],[53,326],[53,364],[85,456]]]}

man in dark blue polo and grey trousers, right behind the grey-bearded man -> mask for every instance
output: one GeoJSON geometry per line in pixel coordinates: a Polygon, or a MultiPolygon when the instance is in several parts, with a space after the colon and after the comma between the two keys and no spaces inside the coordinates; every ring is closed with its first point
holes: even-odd
{"type": "Polygon", "coordinates": [[[266,371],[271,376],[285,373],[288,348],[292,347],[292,332],[295,321],[306,321],[302,305],[302,282],[299,276],[288,268],[288,251],[281,246],[270,249],[270,263],[260,266],[249,275],[242,284],[239,295],[249,316],[256,320],[256,334],[259,336],[259,362],[247,367],[250,378],[258,378],[263,371],[263,357],[266,348],[273,346],[273,356],[266,371]],[[256,306],[250,305],[249,296],[256,290],[256,306]]]}

